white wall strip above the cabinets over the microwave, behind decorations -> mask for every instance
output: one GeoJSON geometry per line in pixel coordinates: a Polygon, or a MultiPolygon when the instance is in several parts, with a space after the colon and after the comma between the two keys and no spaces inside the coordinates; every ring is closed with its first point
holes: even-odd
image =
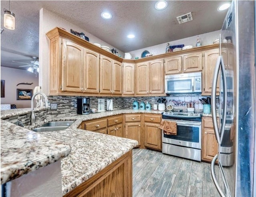
{"type": "MultiPolygon", "coordinates": [[[[130,51],[128,53],[131,53],[132,59],[134,59],[135,57],[139,57],[140,58],[141,57],[141,53],[144,50],[147,50],[150,53],[153,53],[153,55],[159,55],[159,54],[165,53],[166,44],[167,43],[169,43],[170,46],[184,44],[185,46],[186,45],[192,45],[193,47],[195,47],[196,46],[196,37],[197,36],[198,35],[195,35],[195,36],[192,36],[192,37],[187,37],[187,38],[184,38],[184,39],[175,40],[175,41],[170,41],[170,42],[162,43],[162,44],[159,44],[159,45],[154,45],[154,46],[151,46],[151,47],[146,47],[146,48],[143,48],[143,49],[138,49],[136,51],[130,51]]],[[[200,36],[200,39],[201,39],[202,46],[210,45],[210,44],[213,43],[213,41],[215,39],[219,38],[220,30],[215,31],[215,32],[204,33],[204,34],[201,34],[199,36],[200,36]]]]}

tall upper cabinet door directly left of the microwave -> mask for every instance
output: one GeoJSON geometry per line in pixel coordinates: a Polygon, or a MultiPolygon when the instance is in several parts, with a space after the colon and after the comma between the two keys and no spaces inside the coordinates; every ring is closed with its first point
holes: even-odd
{"type": "Polygon", "coordinates": [[[149,93],[164,93],[164,60],[150,61],[149,93]]]}

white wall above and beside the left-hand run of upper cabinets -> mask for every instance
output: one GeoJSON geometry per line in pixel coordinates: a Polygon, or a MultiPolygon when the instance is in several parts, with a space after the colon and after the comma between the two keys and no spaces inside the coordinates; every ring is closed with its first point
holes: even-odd
{"type": "MultiPolygon", "coordinates": [[[[101,45],[108,46],[110,48],[116,48],[106,43],[105,41],[95,37],[94,35],[82,30],[78,26],[60,18],[56,14],[42,8],[40,10],[40,21],[39,21],[39,64],[40,72],[44,73],[39,76],[39,85],[42,87],[42,92],[48,95],[49,93],[49,44],[50,41],[45,35],[50,30],[61,27],[70,32],[70,29],[76,32],[84,32],[84,34],[89,37],[90,43],[99,43],[101,45]]],[[[118,50],[118,54],[124,57],[124,52],[118,50]]]]}

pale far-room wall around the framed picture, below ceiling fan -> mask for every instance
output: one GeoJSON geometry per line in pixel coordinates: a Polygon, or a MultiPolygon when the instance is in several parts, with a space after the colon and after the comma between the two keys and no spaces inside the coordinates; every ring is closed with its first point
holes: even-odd
{"type": "Polygon", "coordinates": [[[32,89],[34,91],[34,87],[38,86],[38,75],[26,70],[1,66],[1,80],[5,80],[5,97],[1,98],[1,104],[16,104],[17,108],[31,107],[31,100],[16,100],[17,89],[32,89]],[[33,84],[18,85],[18,83],[33,84]]]}

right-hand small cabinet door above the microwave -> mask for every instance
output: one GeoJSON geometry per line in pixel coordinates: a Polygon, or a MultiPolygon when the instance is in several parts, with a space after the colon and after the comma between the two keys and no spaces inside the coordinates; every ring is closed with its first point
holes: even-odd
{"type": "Polygon", "coordinates": [[[191,72],[197,72],[202,71],[203,65],[202,65],[202,52],[195,52],[190,53],[183,56],[183,72],[184,73],[191,73],[191,72]]]}

